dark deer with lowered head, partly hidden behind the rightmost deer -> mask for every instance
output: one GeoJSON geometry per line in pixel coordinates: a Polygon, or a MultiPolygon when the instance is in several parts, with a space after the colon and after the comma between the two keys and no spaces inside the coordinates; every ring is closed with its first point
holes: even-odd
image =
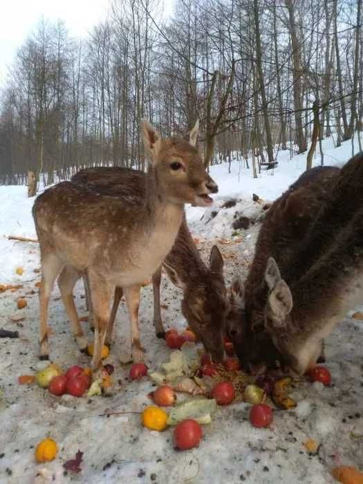
{"type": "MultiPolygon", "coordinates": [[[[311,228],[323,216],[324,208],[331,204],[339,173],[335,167],[319,167],[306,172],[273,203],[263,222],[245,284],[245,295],[243,292],[241,297],[234,297],[239,300],[234,302],[234,314],[229,315],[227,322],[230,336],[245,367],[251,364],[261,366],[261,363],[268,366],[274,366],[275,362],[290,363],[286,346],[281,352],[282,346],[272,342],[272,336],[278,330],[274,328],[268,331],[266,328],[266,305],[270,294],[266,283],[266,266],[268,259],[273,257],[279,266],[281,278],[287,282],[295,280],[292,277],[294,268],[299,264],[305,267],[304,257],[297,257],[297,252],[306,248],[311,228]]],[[[235,284],[242,286],[238,279],[235,284]]],[[[308,310],[314,290],[314,286],[306,286],[305,290],[293,293],[293,313],[299,301],[302,302],[303,293],[308,295],[308,310]]]]}

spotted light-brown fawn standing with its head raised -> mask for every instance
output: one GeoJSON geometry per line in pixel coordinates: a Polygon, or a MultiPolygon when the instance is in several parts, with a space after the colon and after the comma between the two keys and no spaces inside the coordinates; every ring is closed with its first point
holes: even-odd
{"type": "MultiPolygon", "coordinates": [[[[116,286],[124,289],[129,315],[137,324],[140,283],[156,272],[171,250],[185,203],[212,204],[217,185],[207,175],[195,147],[198,122],[191,140],[162,139],[142,122],[142,139],[150,160],[145,201],[130,196],[110,198],[75,183],[62,182],[37,197],[32,213],[41,251],[40,357],[48,358],[48,300],[55,278],[78,344],[79,331],[73,288],[86,274],[95,317],[92,366],[100,368],[101,349],[116,286]]],[[[137,333],[135,331],[134,333],[137,333]]],[[[133,348],[140,350],[134,339],[133,348]]]]}

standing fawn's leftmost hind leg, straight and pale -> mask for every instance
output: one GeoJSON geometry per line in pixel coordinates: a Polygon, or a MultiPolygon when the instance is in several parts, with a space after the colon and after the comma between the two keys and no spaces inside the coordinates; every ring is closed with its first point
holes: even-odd
{"type": "Polygon", "coordinates": [[[63,262],[54,254],[41,257],[41,282],[39,288],[39,360],[49,360],[48,349],[48,305],[50,292],[63,262]]]}

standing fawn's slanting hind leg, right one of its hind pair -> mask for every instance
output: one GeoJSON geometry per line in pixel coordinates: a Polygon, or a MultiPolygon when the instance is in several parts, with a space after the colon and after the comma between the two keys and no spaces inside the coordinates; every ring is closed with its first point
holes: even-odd
{"type": "Polygon", "coordinates": [[[58,286],[62,295],[64,307],[66,308],[66,313],[71,322],[72,333],[77,342],[77,346],[82,353],[86,353],[87,339],[82,331],[77,309],[75,308],[75,301],[73,299],[73,289],[78,279],[80,279],[80,273],[71,266],[66,266],[59,275],[58,286]]]}

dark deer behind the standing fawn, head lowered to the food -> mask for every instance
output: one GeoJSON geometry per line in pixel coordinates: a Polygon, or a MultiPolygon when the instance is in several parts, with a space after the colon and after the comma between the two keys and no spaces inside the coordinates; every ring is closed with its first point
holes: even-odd
{"type": "MultiPolygon", "coordinates": [[[[131,196],[145,198],[146,176],[141,171],[119,167],[97,167],[79,171],[73,183],[86,185],[100,194],[109,196],[131,196]]],[[[223,259],[216,245],[210,253],[209,267],[205,265],[183,218],[173,248],[162,263],[169,279],[183,290],[182,311],[189,326],[203,342],[205,350],[215,361],[223,359],[223,336],[225,318],[229,308],[227,291],[223,280],[223,259]]],[[[160,310],[161,268],[153,274],[153,324],[156,335],[164,336],[160,310]]],[[[85,287],[87,283],[85,282],[85,287]]],[[[86,295],[87,295],[86,290],[86,295]]],[[[109,341],[115,315],[122,297],[122,288],[116,288],[109,341]]],[[[92,317],[90,314],[90,322],[92,317]]],[[[135,337],[135,336],[133,336],[135,337]]]]}

